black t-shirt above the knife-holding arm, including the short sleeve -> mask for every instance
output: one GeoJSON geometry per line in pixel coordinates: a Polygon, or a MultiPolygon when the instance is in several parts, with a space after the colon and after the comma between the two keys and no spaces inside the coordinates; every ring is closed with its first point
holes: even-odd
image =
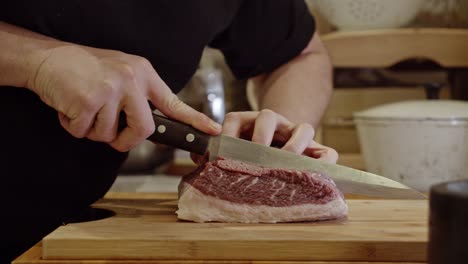
{"type": "Polygon", "coordinates": [[[237,78],[248,78],[298,55],[315,30],[303,0],[5,0],[0,20],[143,56],[174,92],[205,46],[220,49],[237,78]]]}

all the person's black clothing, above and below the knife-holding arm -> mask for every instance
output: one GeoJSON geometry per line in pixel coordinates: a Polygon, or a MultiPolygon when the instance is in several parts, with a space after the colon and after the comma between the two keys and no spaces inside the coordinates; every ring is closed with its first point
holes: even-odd
{"type": "MultiPolygon", "coordinates": [[[[0,20],[143,56],[174,92],[191,78],[207,45],[247,78],[297,56],[314,32],[299,0],[4,0],[0,20]]],[[[4,263],[102,197],[127,154],[73,138],[27,89],[0,87],[0,120],[4,263]]]]}

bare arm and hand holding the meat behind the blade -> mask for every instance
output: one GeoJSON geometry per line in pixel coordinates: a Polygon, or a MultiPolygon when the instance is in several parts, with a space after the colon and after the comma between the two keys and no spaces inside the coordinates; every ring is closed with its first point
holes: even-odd
{"type": "Polygon", "coordinates": [[[315,128],[332,93],[332,67],[317,34],[296,58],[275,71],[252,78],[260,112],[230,113],[223,133],[242,136],[251,131],[254,142],[334,163],[338,153],[313,141],[315,128]]]}

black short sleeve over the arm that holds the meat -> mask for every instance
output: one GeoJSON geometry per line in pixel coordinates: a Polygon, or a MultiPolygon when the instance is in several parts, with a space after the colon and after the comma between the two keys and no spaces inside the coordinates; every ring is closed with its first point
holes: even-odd
{"type": "Polygon", "coordinates": [[[315,21],[300,0],[244,1],[231,25],[210,43],[239,79],[271,72],[297,56],[315,21]]]}

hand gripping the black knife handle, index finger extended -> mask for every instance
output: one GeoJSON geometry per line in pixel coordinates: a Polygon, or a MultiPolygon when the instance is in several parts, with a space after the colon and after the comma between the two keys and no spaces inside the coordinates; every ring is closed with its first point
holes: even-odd
{"type": "Polygon", "coordinates": [[[144,58],[119,51],[69,45],[53,48],[28,88],[58,111],[60,124],[77,138],[128,151],[154,130],[150,101],[166,116],[209,134],[221,127],[172,93],[144,58]],[[123,111],[127,127],[117,131],[123,111]]]}

